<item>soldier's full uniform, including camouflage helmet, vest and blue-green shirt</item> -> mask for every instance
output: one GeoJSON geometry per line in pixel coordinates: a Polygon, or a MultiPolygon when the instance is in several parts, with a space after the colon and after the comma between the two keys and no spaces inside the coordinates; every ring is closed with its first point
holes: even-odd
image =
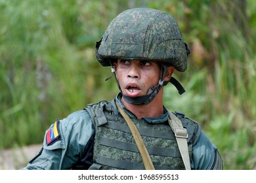
{"type": "MultiPolygon", "coordinates": [[[[182,93],[177,80],[171,78],[163,82],[169,65],[177,71],[186,70],[190,54],[175,20],[152,8],[126,10],[110,23],[96,43],[95,52],[102,66],[113,67],[117,59],[161,63],[162,75],[157,86],[141,97],[128,97],[120,90],[116,101],[139,128],[156,169],[184,169],[173,131],[167,125],[166,108],[158,118],[138,120],[121,103],[123,97],[127,103],[147,105],[168,82],[182,93]]],[[[115,73],[114,68],[112,71],[115,73]]],[[[144,169],[131,132],[115,108],[115,103],[102,101],[56,120],[45,133],[43,148],[24,169],[144,169]]],[[[223,169],[216,146],[202,133],[200,126],[183,114],[175,114],[189,134],[191,169],[223,169]]]]}

